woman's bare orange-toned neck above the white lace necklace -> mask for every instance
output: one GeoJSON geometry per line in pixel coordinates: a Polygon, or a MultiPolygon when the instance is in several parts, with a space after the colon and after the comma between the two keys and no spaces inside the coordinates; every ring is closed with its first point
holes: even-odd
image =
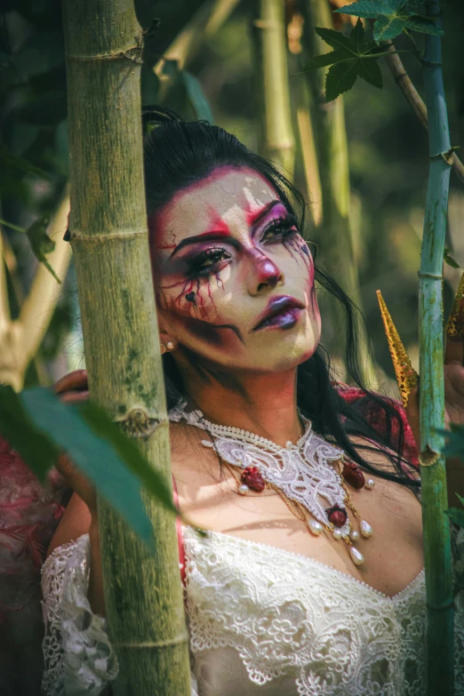
{"type": "Polygon", "coordinates": [[[296,403],[296,368],[273,374],[236,373],[201,379],[184,374],[187,395],[207,420],[243,428],[284,446],[296,442],[303,428],[296,403]]]}

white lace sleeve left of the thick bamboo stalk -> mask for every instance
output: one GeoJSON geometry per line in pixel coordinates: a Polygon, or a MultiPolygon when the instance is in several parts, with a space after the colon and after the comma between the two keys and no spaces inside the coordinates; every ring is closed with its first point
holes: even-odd
{"type": "Polygon", "coordinates": [[[44,677],[47,696],[103,692],[116,678],[116,655],[105,620],[87,599],[89,536],[55,548],[42,568],[45,624],[44,677]]]}

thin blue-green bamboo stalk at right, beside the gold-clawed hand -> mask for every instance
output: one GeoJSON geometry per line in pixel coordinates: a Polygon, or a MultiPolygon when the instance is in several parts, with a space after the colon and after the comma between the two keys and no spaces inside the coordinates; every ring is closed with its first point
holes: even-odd
{"type": "MultiPolygon", "coordinates": [[[[428,15],[440,20],[438,0],[428,15]]],[[[428,110],[427,204],[420,257],[420,476],[424,523],[424,566],[428,606],[428,696],[453,692],[453,601],[450,525],[443,437],[444,342],[443,258],[451,171],[451,143],[444,97],[440,36],[426,36],[423,75],[428,110]]]]}

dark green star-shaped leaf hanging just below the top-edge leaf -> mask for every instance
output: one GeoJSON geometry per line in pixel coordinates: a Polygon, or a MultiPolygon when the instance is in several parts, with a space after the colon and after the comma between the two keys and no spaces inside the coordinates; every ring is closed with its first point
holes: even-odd
{"type": "Polygon", "coordinates": [[[361,20],[357,20],[349,36],[334,29],[316,27],[316,33],[334,49],[309,60],[304,70],[314,70],[331,65],[325,77],[325,99],[332,101],[343,92],[348,92],[362,77],[375,87],[382,86],[382,74],[377,64],[380,54],[385,50],[364,36],[361,20]]]}

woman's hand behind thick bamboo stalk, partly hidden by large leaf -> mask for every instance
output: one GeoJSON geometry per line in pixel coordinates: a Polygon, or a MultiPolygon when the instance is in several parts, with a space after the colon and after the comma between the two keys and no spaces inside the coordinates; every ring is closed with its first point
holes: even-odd
{"type": "MultiPolygon", "coordinates": [[[[89,388],[87,384],[87,372],[76,370],[62,377],[54,385],[54,390],[60,400],[66,404],[77,404],[89,398],[89,388]]],[[[77,493],[79,498],[84,500],[89,508],[92,522],[97,520],[97,499],[95,489],[92,484],[76,469],[66,454],[62,454],[56,464],[60,474],[65,477],[68,485],[77,493]]]]}

